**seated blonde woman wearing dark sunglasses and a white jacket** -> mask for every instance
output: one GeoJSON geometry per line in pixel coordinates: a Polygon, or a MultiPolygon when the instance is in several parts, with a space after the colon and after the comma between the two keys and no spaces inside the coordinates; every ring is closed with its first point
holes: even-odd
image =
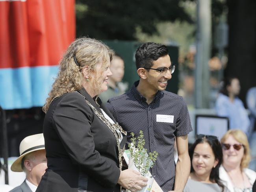
{"type": "Polygon", "coordinates": [[[230,192],[251,192],[256,172],[247,169],[250,148],[247,137],[239,129],[229,130],[222,138],[223,164],[219,174],[230,192]]]}

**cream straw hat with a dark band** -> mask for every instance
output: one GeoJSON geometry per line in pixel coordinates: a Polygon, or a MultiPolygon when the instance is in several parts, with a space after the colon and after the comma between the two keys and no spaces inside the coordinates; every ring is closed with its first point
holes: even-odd
{"type": "Polygon", "coordinates": [[[11,165],[11,170],[14,172],[22,172],[21,168],[21,160],[25,155],[37,150],[44,150],[45,149],[45,139],[43,133],[30,135],[25,137],[20,142],[20,157],[16,159],[11,165]]]}

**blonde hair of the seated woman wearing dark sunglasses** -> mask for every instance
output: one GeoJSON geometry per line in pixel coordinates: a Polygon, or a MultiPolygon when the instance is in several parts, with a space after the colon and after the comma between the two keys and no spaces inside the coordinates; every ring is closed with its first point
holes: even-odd
{"type": "Polygon", "coordinates": [[[245,133],[239,129],[230,129],[228,130],[225,135],[221,138],[221,143],[224,143],[228,136],[233,136],[239,143],[243,144],[244,148],[244,155],[241,160],[240,168],[243,170],[243,168],[247,168],[250,162],[250,147],[249,147],[249,142],[247,139],[247,136],[245,133]]]}

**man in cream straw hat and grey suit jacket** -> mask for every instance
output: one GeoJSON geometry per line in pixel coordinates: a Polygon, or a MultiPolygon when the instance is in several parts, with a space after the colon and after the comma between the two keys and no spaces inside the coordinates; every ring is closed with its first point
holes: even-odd
{"type": "Polygon", "coordinates": [[[10,192],[35,192],[47,169],[43,133],[30,135],[20,142],[20,157],[13,162],[11,170],[26,173],[25,181],[10,192]]]}

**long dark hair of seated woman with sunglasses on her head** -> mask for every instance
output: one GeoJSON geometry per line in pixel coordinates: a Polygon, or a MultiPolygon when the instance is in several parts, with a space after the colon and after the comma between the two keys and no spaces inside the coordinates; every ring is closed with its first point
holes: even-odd
{"type": "Polygon", "coordinates": [[[212,139],[208,139],[208,138],[203,137],[203,138],[198,138],[192,144],[192,146],[189,148],[189,157],[190,157],[190,161],[191,161],[191,170],[190,170],[190,172],[195,171],[193,169],[193,166],[192,166],[193,154],[194,154],[196,146],[200,143],[208,143],[210,145],[212,151],[213,151],[215,159],[219,160],[219,162],[215,166],[215,168],[211,169],[210,180],[212,182],[217,183],[222,188],[222,191],[224,191],[224,185],[223,185],[223,183],[221,183],[221,179],[219,178],[219,167],[221,166],[222,161],[223,161],[223,153],[222,153],[221,143],[219,142],[218,139],[212,140],[212,139]]]}

